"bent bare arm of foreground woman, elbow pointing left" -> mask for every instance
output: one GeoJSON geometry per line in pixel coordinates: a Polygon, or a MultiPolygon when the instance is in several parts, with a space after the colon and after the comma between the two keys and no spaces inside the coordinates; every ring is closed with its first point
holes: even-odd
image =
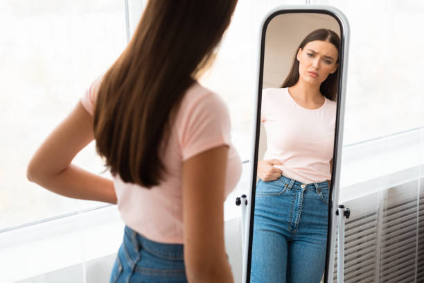
{"type": "Polygon", "coordinates": [[[93,117],[78,103],[33,155],[28,180],[62,196],[116,204],[112,180],[71,164],[93,139],[93,117]]]}

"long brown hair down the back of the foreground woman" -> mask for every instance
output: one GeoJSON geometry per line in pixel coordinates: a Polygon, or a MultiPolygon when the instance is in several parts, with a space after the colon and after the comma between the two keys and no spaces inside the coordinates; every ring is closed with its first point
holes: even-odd
{"type": "Polygon", "coordinates": [[[150,188],[186,89],[213,58],[236,0],[150,0],[132,40],[100,83],[94,137],[112,175],[150,188]]]}

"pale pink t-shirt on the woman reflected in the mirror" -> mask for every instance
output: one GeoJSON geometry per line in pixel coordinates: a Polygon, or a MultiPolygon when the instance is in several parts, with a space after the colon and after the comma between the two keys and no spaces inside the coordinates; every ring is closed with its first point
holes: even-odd
{"type": "Polygon", "coordinates": [[[297,104],[287,88],[262,90],[260,121],[265,126],[267,151],[264,160],[276,159],[274,165],[287,178],[303,183],[331,180],[337,103],[325,98],[317,109],[297,104]]]}

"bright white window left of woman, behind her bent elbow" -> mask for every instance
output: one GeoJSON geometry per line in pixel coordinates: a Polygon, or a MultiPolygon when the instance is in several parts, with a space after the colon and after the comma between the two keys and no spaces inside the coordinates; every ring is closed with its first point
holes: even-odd
{"type": "MultiPolygon", "coordinates": [[[[121,0],[6,0],[1,6],[0,230],[102,205],[64,198],[28,182],[26,166],[126,44],[121,0]]],[[[75,162],[103,171],[94,143],[75,162]]]]}

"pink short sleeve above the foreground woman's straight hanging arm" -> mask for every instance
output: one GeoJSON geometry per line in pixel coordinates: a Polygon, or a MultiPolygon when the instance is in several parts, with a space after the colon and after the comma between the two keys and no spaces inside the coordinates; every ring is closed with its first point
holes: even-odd
{"type": "Polygon", "coordinates": [[[203,95],[183,111],[178,130],[183,161],[211,148],[231,145],[229,111],[218,94],[203,95]]]}

